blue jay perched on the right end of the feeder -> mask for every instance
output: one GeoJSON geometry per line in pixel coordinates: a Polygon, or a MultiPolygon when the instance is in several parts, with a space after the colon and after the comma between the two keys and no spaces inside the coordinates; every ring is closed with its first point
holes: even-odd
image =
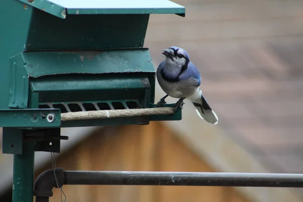
{"type": "Polygon", "coordinates": [[[196,66],[189,61],[186,51],[171,46],[169,49],[164,49],[162,54],[165,56],[165,60],[157,68],[157,80],[166,95],[160,99],[156,107],[166,104],[165,98],[171,96],[180,98],[174,109],[177,110],[179,107],[182,109],[183,100],[189,98],[196,108],[198,116],[216,125],[218,117],[199,88],[201,76],[196,66]]]}

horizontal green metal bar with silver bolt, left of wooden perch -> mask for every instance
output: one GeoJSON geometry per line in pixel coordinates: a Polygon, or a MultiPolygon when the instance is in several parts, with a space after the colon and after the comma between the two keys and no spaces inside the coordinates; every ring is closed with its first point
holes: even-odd
{"type": "Polygon", "coordinates": [[[0,127],[51,128],[60,127],[60,109],[0,110],[0,127]]]}

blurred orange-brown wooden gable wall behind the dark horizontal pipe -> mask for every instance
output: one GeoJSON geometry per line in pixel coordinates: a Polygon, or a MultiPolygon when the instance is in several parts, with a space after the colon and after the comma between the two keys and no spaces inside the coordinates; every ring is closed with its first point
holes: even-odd
{"type": "MultiPolygon", "coordinates": [[[[57,159],[65,170],[215,172],[165,125],[107,127],[57,159]]],[[[36,172],[51,169],[51,164],[36,172]]],[[[230,187],[66,185],[67,201],[105,202],[246,202],[230,187]]],[[[61,201],[54,188],[51,202],[61,201]]]]}

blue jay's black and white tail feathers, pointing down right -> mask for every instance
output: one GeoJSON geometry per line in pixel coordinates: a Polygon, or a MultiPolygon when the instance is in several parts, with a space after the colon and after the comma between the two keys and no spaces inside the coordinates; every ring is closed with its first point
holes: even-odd
{"type": "Polygon", "coordinates": [[[204,119],[214,125],[218,123],[218,116],[207,103],[201,89],[199,89],[193,96],[191,96],[190,100],[196,108],[196,112],[201,119],[204,119]]]}

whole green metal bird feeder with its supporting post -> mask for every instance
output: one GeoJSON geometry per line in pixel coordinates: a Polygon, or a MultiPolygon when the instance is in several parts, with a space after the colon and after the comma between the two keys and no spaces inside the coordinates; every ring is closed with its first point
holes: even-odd
{"type": "Polygon", "coordinates": [[[1,3],[0,127],[14,154],[13,201],[32,201],[34,151],[60,152],[62,127],[180,120],[155,107],[155,68],[143,48],[150,14],[184,16],[167,0],[11,0],[1,3]]]}

